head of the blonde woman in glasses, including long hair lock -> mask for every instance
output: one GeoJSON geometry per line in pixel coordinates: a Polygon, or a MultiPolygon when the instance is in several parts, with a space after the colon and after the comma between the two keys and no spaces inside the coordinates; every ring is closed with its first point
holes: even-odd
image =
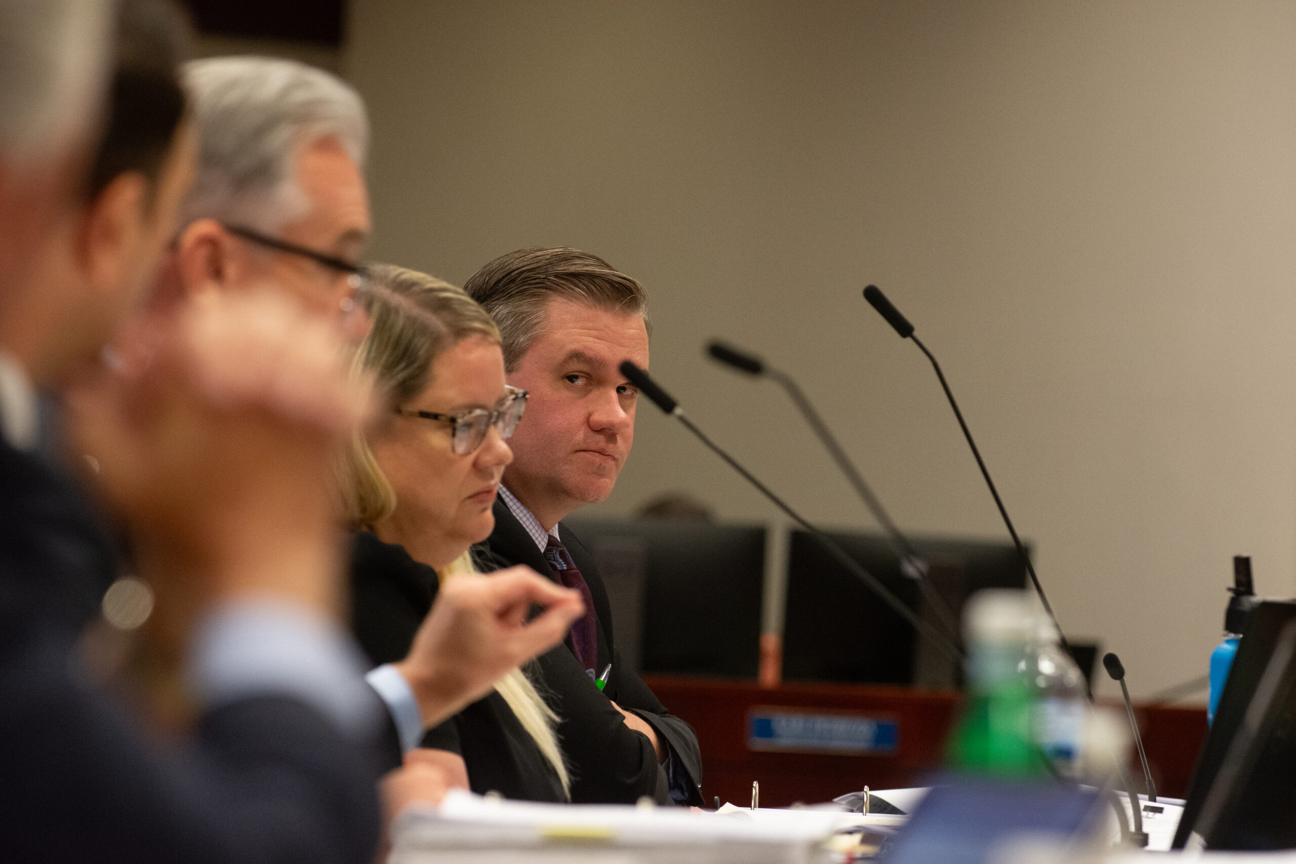
{"type": "MultiPolygon", "coordinates": [[[[377,380],[391,412],[349,455],[350,521],[404,547],[442,580],[472,576],[469,547],[495,526],[491,505],[513,457],[504,438],[525,398],[504,383],[495,323],[461,289],[390,264],[367,275],[371,326],[355,372],[377,380]]],[[[521,670],[495,689],[569,790],[557,716],[521,670]]]]}

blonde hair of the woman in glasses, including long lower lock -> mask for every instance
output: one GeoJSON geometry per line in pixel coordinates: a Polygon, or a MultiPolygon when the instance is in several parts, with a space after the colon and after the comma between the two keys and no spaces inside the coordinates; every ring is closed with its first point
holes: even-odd
{"type": "MultiPolygon", "coordinates": [[[[463,289],[439,279],[391,264],[367,268],[371,290],[362,302],[369,316],[369,333],[355,351],[355,374],[372,374],[394,405],[400,405],[432,383],[433,363],[442,351],[469,335],[500,342],[499,328],[486,311],[463,289]]],[[[358,529],[372,529],[397,508],[395,491],[382,474],[364,435],[351,442],[342,466],[342,497],[349,521],[358,529]]],[[[437,573],[445,580],[457,576],[480,578],[472,556],[464,552],[437,573]]],[[[535,741],[570,795],[562,751],[553,728],[559,718],[540,698],[535,685],[515,668],[495,681],[522,728],[535,741]]]]}

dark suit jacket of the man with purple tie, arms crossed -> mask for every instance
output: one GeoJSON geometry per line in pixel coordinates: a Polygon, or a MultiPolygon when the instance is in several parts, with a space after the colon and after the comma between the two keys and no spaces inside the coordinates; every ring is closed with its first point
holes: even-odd
{"type": "MultiPolygon", "coordinates": [[[[535,540],[512,510],[498,500],[494,512],[495,530],[485,543],[474,547],[482,569],[496,570],[525,563],[559,582],[535,540]]],[[[590,585],[595,615],[599,619],[597,668],[601,671],[612,663],[612,676],[604,690],[599,692],[566,646],[560,645],[538,661],[544,674],[544,683],[555,694],[553,709],[561,718],[559,737],[562,749],[575,763],[572,801],[630,803],[638,801],[640,795],[652,795],[660,803],[670,801],[666,775],[657,764],[652,744],[625,724],[621,714],[608,703],[610,698],[622,709],[643,718],[670,745],[677,769],[686,775],[688,803],[701,806],[702,760],[697,747],[697,733],[693,727],[673,716],[643,679],[621,658],[612,632],[608,591],[594,563],[594,556],[565,525],[560,523],[559,534],[590,585]]]]}

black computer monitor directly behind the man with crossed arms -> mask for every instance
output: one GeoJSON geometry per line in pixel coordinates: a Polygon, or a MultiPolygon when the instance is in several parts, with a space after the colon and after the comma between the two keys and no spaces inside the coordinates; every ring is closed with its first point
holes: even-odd
{"type": "Polygon", "coordinates": [[[661,518],[564,526],[594,556],[617,645],[639,671],[756,677],[765,526],[661,518]]]}

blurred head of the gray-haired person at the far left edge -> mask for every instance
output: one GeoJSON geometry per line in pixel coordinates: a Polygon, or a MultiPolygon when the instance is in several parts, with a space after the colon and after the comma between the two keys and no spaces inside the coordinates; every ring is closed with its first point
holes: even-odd
{"type": "Polygon", "coordinates": [[[111,9],[0,0],[0,347],[25,329],[22,279],[100,128],[111,9]]]}

